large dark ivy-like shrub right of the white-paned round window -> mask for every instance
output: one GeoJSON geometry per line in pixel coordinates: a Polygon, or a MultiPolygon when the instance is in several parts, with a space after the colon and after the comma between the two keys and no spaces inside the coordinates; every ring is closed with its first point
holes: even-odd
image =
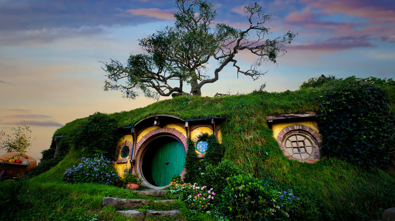
{"type": "Polygon", "coordinates": [[[327,90],[321,105],[324,154],[364,168],[389,162],[395,124],[385,91],[350,77],[327,90]]]}

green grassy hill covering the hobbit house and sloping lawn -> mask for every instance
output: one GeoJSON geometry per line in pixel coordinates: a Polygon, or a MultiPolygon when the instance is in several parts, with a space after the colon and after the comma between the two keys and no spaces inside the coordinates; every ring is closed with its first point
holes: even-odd
{"type": "MultiPolygon", "coordinates": [[[[158,114],[182,119],[223,117],[226,119],[221,125],[222,145],[225,147],[223,160],[233,162],[256,178],[270,178],[310,193],[311,201],[315,200],[314,205],[325,208],[328,219],[381,219],[384,209],[395,206],[395,175],[390,167],[382,168],[386,171],[378,168],[366,170],[336,157],[325,156],[313,164],[289,160],[266,124],[268,115],[319,112],[321,98],[331,87],[323,84],[306,86],[297,91],[255,91],[225,97],[182,96],[108,116],[115,120],[117,127],[134,125],[141,119],[158,114]]],[[[389,108],[394,113],[395,86],[383,84],[380,87],[388,94],[389,108]]],[[[88,119],[67,123],[55,132],[54,137],[72,137],[88,119]]],[[[83,149],[71,147],[63,160],[46,173],[19,182],[0,182],[2,193],[7,192],[0,197],[0,219],[124,220],[124,217],[114,213],[113,208],[102,207],[101,199],[106,196],[133,198],[133,193],[117,187],[66,184],[60,180],[65,169],[77,164],[85,154],[83,149]],[[23,209],[6,205],[18,205],[23,209]]],[[[181,220],[191,217],[181,201],[168,207],[181,209],[181,220]]],[[[311,214],[303,215],[304,220],[315,220],[311,214]]],[[[202,217],[215,220],[209,215],[202,217]]]]}

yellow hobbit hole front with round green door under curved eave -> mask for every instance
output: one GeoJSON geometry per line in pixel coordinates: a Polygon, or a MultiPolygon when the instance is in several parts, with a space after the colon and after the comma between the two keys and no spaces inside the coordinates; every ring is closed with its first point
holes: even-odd
{"type": "MultiPolygon", "coordinates": [[[[120,175],[137,174],[142,186],[162,189],[175,175],[184,177],[187,137],[195,142],[204,133],[221,139],[223,118],[182,120],[170,115],[156,115],[121,128],[124,135],[118,143],[114,167],[120,175]],[[127,153],[129,148],[129,154],[127,153]],[[125,157],[128,155],[127,157],[125,157]]],[[[198,142],[204,156],[204,142],[198,142]]],[[[206,142],[207,143],[207,142],[206,142]]],[[[195,149],[198,152],[198,149],[195,149]]]]}

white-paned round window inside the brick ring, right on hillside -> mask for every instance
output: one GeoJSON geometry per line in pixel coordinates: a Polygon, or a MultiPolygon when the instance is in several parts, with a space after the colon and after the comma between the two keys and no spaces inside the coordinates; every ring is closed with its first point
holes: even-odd
{"type": "Polygon", "coordinates": [[[314,153],[314,143],[309,136],[291,133],[284,140],[287,153],[295,159],[307,159],[314,153]]]}

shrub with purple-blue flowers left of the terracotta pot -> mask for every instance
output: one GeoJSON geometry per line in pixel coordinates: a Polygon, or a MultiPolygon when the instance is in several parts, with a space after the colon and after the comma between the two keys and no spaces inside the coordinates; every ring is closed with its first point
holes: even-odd
{"type": "Polygon", "coordinates": [[[99,154],[96,154],[93,158],[83,157],[80,164],[67,169],[61,179],[66,183],[96,183],[119,186],[121,178],[112,167],[112,163],[113,161],[99,154]]]}

